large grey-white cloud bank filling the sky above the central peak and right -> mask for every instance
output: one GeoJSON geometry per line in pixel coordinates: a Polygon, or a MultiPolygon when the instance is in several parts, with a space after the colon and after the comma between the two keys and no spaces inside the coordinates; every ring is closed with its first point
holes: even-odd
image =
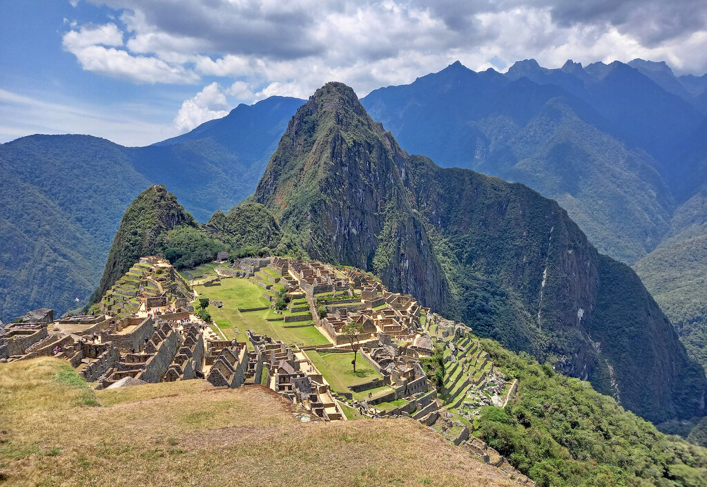
{"type": "Polygon", "coordinates": [[[307,98],[327,81],[365,96],[457,59],[504,71],[530,57],[545,67],[642,57],[677,75],[707,71],[704,0],[88,1],[108,7],[105,25],[71,24],[63,39],[83,69],[208,85],[182,104],[179,130],[221,116],[223,99],[307,98]]]}

